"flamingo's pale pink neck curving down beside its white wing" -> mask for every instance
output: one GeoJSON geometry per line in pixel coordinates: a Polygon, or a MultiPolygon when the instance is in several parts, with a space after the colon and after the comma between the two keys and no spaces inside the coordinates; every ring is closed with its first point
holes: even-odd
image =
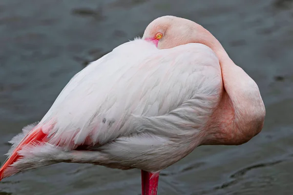
{"type": "Polygon", "coordinates": [[[257,135],[263,126],[265,107],[258,86],[229,58],[221,43],[202,26],[197,27],[195,42],[211,48],[217,55],[224,91],[203,144],[238,145],[257,135]]]}

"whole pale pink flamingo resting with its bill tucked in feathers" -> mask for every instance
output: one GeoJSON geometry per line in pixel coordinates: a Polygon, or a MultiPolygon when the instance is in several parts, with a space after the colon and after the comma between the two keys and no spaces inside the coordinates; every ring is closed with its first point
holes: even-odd
{"type": "Polygon", "coordinates": [[[90,63],[40,122],[14,137],[0,179],[59,162],[140,169],[142,195],[161,170],[200,145],[257,135],[265,106],[257,84],[201,25],[164,16],[142,39],[90,63]]]}

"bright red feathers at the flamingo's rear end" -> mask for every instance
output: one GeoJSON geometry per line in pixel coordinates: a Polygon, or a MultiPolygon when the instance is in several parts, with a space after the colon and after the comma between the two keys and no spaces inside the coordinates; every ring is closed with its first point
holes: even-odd
{"type": "Polygon", "coordinates": [[[0,169],[0,180],[5,177],[4,171],[16,162],[21,156],[19,155],[19,151],[21,148],[28,144],[34,144],[36,142],[42,142],[46,139],[47,135],[42,132],[42,127],[36,126],[31,130],[19,143],[19,145],[14,149],[11,156],[7,159],[7,161],[2,165],[0,169]]]}

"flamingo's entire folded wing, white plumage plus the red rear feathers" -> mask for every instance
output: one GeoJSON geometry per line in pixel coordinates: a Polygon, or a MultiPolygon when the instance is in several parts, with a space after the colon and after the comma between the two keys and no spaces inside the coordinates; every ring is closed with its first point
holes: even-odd
{"type": "Polygon", "coordinates": [[[166,148],[176,136],[198,132],[222,90],[219,61],[207,46],[189,43],[158,50],[142,39],[127,42],[69,81],[40,123],[14,140],[9,154],[14,160],[8,159],[0,173],[19,157],[25,158],[25,148],[41,143],[64,152],[78,152],[80,147],[104,150],[107,159],[116,155],[116,161],[112,159],[116,167],[125,159],[125,165],[142,168],[134,165],[142,159],[131,161],[129,155],[134,159],[146,147],[165,144],[166,148]]]}

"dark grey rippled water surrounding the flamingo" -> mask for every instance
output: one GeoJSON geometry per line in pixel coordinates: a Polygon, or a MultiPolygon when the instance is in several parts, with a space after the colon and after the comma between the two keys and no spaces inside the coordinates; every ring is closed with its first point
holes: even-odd
{"type": "MultiPolygon", "coordinates": [[[[0,162],[90,61],[164,15],[202,24],[258,84],[263,131],[201,146],[161,173],[159,195],[292,195],[293,0],[1,0],[0,162]]],[[[57,164],[0,182],[0,195],[140,195],[140,171],[57,164]]]]}

